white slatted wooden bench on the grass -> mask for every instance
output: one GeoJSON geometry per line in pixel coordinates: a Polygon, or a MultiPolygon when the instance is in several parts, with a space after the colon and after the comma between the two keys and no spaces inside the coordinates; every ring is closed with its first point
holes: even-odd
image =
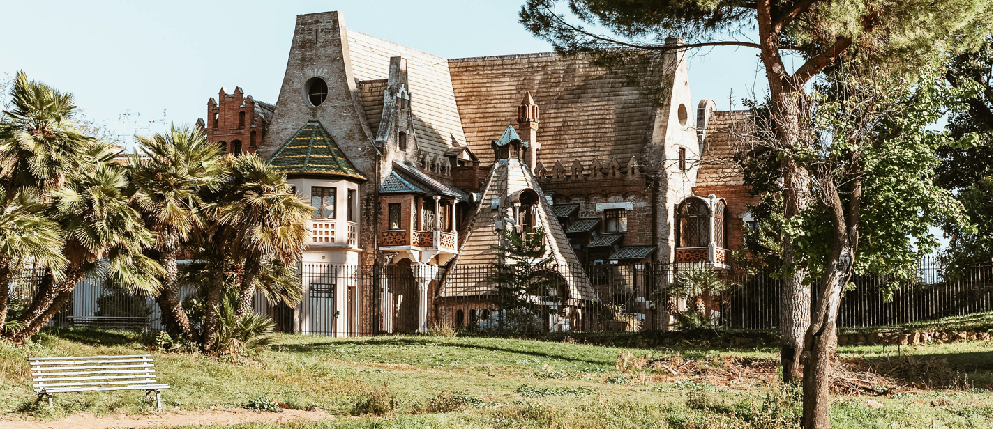
{"type": "Polygon", "coordinates": [[[162,411],[159,390],[169,388],[155,380],[151,355],[96,357],[28,357],[31,379],[38,400],[65,392],[145,390],[145,400],[155,393],[156,409],[162,411]]]}

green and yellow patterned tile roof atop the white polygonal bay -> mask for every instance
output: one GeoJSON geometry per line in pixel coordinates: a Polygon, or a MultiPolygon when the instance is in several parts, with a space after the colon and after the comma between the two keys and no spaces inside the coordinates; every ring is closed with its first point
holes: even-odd
{"type": "Polygon", "coordinates": [[[366,180],[317,121],[307,122],[297,130],[266,165],[287,175],[317,174],[366,180]]]}

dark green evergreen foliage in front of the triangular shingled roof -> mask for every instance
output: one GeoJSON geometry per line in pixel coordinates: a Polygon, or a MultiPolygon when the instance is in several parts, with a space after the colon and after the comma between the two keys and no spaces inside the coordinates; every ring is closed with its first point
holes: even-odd
{"type": "Polygon", "coordinates": [[[506,229],[503,237],[502,245],[493,246],[499,258],[493,275],[498,302],[508,309],[561,302],[566,285],[554,270],[556,259],[546,248],[545,228],[521,234],[506,229]]]}

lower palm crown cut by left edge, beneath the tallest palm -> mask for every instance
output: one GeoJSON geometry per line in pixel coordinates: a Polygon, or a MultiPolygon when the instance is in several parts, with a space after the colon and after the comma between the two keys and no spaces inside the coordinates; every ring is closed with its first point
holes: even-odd
{"type": "Polygon", "coordinates": [[[62,254],[65,241],[59,224],[45,217],[37,190],[26,188],[7,198],[0,188],[0,333],[5,330],[9,308],[11,274],[27,262],[40,263],[52,269],[56,279],[64,278],[68,261],[62,254]]]}

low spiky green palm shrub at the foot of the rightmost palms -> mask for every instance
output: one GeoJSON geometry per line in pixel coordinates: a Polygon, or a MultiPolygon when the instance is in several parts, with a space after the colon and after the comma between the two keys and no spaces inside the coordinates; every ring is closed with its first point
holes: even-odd
{"type": "Polygon", "coordinates": [[[237,307],[238,296],[229,293],[216,310],[221,319],[220,329],[215,334],[219,353],[238,358],[268,349],[276,338],[273,334],[276,324],[252,311],[239,316],[237,307]]]}

